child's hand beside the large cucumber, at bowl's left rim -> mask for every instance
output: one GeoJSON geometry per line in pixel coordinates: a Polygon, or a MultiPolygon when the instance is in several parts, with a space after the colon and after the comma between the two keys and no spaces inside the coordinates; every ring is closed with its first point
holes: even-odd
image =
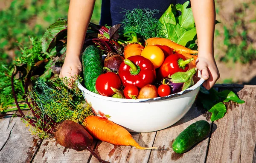
{"type": "MultiPolygon", "coordinates": [[[[82,71],[81,60],[78,56],[66,56],[64,64],[61,68],[59,77],[67,79],[73,79],[73,77],[78,76],[82,71]]],[[[72,87],[72,83],[68,84],[68,87],[72,87]]]]}

